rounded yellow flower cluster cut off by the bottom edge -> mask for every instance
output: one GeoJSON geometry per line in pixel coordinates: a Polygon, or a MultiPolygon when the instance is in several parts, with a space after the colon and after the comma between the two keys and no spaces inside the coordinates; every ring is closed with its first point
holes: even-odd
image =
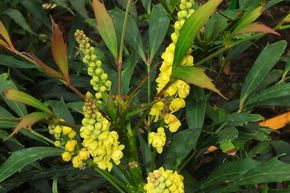
{"type": "Polygon", "coordinates": [[[183,176],[163,167],[149,173],[146,193],[184,193],[183,176]]]}

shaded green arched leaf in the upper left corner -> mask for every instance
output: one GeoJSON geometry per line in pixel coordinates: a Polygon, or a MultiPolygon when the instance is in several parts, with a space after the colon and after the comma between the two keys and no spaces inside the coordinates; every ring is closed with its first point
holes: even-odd
{"type": "Polygon", "coordinates": [[[3,14],[8,15],[13,19],[15,23],[17,23],[20,27],[22,27],[25,31],[36,35],[26,22],[25,18],[23,17],[22,13],[20,13],[17,9],[7,9],[3,12],[3,14]]]}

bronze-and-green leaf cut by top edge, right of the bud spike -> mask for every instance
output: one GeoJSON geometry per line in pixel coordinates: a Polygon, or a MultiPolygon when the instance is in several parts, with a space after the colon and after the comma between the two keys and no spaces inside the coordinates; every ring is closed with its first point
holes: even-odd
{"type": "Polygon", "coordinates": [[[114,56],[115,60],[118,59],[118,44],[116,30],[112,17],[109,15],[104,4],[99,0],[93,0],[92,3],[95,17],[97,20],[97,28],[100,32],[101,37],[103,38],[108,49],[114,56]]]}

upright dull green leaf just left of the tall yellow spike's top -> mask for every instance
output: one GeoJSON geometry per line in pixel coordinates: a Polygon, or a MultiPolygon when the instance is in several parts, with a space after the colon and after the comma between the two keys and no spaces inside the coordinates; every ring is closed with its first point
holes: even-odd
{"type": "Polygon", "coordinates": [[[149,18],[149,61],[152,61],[160,48],[168,27],[170,18],[161,4],[153,7],[149,18]]]}

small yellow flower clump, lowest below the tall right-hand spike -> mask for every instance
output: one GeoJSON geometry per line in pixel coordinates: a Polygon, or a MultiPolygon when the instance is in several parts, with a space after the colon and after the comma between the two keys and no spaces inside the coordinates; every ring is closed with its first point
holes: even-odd
{"type": "Polygon", "coordinates": [[[166,135],[163,127],[157,129],[157,133],[151,132],[148,135],[148,142],[156,149],[158,153],[162,153],[166,142],[166,135]]]}

